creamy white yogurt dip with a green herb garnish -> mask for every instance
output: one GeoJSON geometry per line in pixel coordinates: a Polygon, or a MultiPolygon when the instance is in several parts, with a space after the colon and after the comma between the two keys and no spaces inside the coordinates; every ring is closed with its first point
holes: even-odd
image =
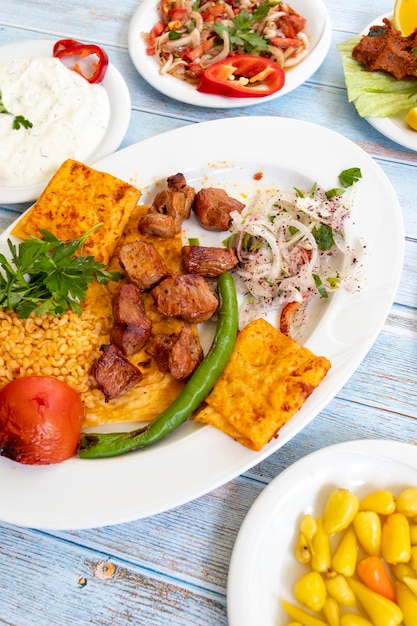
{"type": "Polygon", "coordinates": [[[0,114],[2,187],[47,181],[66,159],[85,160],[106,133],[110,102],[105,88],[54,57],[1,62],[0,92],[11,113],[0,114]],[[32,128],[14,129],[17,115],[32,128]]]}

